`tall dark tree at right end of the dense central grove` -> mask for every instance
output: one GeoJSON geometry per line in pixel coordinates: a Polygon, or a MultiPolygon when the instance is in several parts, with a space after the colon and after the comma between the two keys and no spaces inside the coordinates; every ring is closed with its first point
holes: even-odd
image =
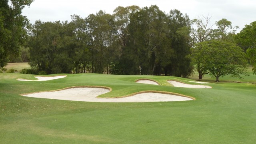
{"type": "Polygon", "coordinates": [[[190,54],[190,42],[187,38],[189,32],[184,36],[180,34],[180,28],[190,28],[190,20],[187,14],[182,14],[179,10],[171,10],[168,14],[168,39],[171,42],[173,54],[170,64],[166,70],[170,75],[187,77],[192,72],[191,60],[188,57],[190,54]]]}

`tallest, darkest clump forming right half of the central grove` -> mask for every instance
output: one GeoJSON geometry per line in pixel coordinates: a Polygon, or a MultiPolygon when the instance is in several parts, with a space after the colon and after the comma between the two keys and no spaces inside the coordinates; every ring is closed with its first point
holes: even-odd
{"type": "Polygon", "coordinates": [[[178,29],[189,27],[188,16],[157,6],[138,10],[130,16],[126,46],[116,66],[124,74],[153,74],[187,77],[191,72],[188,39],[178,29]]]}

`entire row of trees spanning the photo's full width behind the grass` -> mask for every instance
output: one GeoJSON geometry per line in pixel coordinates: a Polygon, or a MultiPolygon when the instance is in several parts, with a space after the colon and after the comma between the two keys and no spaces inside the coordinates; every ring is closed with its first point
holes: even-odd
{"type": "Polygon", "coordinates": [[[180,77],[194,69],[199,79],[211,74],[218,81],[224,75],[248,75],[246,52],[256,73],[255,22],[236,34],[237,27],[226,19],[209,25],[209,16],[190,20],[179,10],[166,14],[154,5],[119,6],[112,15],[100,10],[86,18],[73,15],[71,22],[38,20],[31,26],[21,10],[32,1],[0,2],[0,67],[29,60],[41,74],[180,77]]]}

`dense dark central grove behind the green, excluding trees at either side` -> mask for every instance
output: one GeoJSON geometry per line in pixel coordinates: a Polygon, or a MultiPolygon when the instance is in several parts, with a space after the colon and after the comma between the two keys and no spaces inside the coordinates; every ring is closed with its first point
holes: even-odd
{"type": "Polygon", "coordinates": [[[30,65],[47,74],[112,73],[172,75],[192,72],[189,39],[177,31],[190,27],[178,10],[157,6],[118,7],[71,22],[37,21],[30,33],[30,65]]]}

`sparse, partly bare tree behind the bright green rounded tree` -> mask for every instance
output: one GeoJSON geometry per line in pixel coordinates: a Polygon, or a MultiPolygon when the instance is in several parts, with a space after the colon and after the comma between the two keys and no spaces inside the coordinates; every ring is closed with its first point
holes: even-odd
{"type": "Polygon", "coordinates": [[[210,17],[203,16],[199,19],[192,20],[191,28],[191,44],[192,44],[192,62],[196,65],[196,70],[198,71],[198,79],[202,80],[204,74],[210,73],[208,67],[204,61],[202,61],[201,54],[198,51],[201,50],[203,44],[202,42],[208,42],[212,40],[219,41],[229,41],[234,42],[234,35],[238,26],[232,28],[232,23],[223,18],[215,22],[216,29],[213,28],[214,25],[210,25],[210,17]]]}

